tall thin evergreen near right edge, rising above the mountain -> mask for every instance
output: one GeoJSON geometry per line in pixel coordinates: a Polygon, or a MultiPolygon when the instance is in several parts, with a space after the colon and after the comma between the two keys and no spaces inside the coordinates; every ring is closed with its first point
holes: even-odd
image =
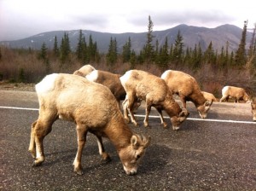
{"type": "Polygon", "coordinates": [[[246,49],[245,49],[246,37],[247,37],[247,21],[244,21],[243,30],[241,33],[241,41],[235,55],[236,66],[244,66],[246,64],[246,49]]]}

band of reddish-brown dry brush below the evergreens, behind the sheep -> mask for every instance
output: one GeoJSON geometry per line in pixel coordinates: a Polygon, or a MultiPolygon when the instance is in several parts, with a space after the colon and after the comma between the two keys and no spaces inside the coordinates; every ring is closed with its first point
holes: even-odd
{"type": "MultiPolygon", "coordinates": [[[[49,54],[49,67],[44,61],[38,60],[38,51],[27,49],[7,49],[1,47],[2,57],[0,59],[0,80],[9,80],[18,83],[38,83],[44,76],[52,72],[73,73],[83,66],[83,63],[76,60],[75,55],[71,55],[69,61],[61,63],[55,56],[49,54]]],[[[119,63],[107,66],[104,56],[98,63],[90,63],[96,69],[124,74],[131,69],[130,63],[119,63]]],[[[165,69],[161,69],[154,64],[135,65],[136,69],[144,70],[160,76],[165,69]]],[[[234,85],[245,88],[249,95],[256,92],[256,72],[248,72],[247,68],[229,68],[225,70],[212,69],[211,65],[205,65],[193,71],[186,66],[170,64],[168,68],[189,73],[195,77],[201,86],[201,90],[212,93],[216,97],[221,97],[221,90],[224,85],[234,85]]]]}

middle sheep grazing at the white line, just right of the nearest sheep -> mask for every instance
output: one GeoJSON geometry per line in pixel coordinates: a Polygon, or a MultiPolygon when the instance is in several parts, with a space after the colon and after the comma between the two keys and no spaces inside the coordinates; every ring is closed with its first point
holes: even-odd
{"type": "Polygon", "coordinates": [[[130,70],[120,77],[121,83],[126,91],[127,104],[124,105],[125,119],[129,122],[127,110],[131,115],[131,122],[137,125],[133,115],[134,102],[146,101],[146,117],[144,126],[148,126],[148,115],[151,107],[155,107],[160,113],[161,124],[166,127],[162,116],[162,110],[170,116],[172,129],[178,130],[180,124],[189,116],[186,110],[182,110],[172,98],[172,92],[168,89],[165,81],[149,72],[130,70]]]}

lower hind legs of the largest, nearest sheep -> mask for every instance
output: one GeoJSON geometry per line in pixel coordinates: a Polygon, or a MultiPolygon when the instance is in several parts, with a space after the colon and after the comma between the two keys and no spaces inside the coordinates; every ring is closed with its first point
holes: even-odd
{"type": "Polygon", "coordinates": [[[34,124],[32,128],[32,138],[31,138],[31,146],[35,142],[36,145],[36,156],[34,156],[33,146],[32,146],[32,156],[36,159],[33,162],[33,166],[41,165],[44,162],[44,137],[49,134],[51,131],[52,121],[49,120],[44,122],[44,120],[38,119],[38,121],[34,124]]]}

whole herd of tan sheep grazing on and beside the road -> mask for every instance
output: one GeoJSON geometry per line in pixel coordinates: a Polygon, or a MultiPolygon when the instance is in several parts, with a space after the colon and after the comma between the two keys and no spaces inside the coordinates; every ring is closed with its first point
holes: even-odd
{"type": "MultiPolygon", "coordinates": [[[[161,124],[167,126],[162,111],[166,111],[172,122],[172,129],[178,130],[189,112],[186,101],[192,101],[202,119],[212,101],[217,99],[210,93],[202,92],[195,78],[179,71],[167,70],[157,77],[142,70],[130,70],[123,76],[111,72],[96,70],[90,65],[81,67],[73,74],[54,73],[47,75],[36,84],[39,101],[39,116],[32,123],[29,151],[34,158],[33,165],[44,162],[44,137],[49,134],[56,119],[66,119],[76,124],[78,151],[73,161],[74,171],[82,174],[82,151],[88,132],[96,136],[102,159],[108,160],[102,143],[102,137],[108,137],[119,154],[126,174],[137,173],[137,167],[148,147],[151,137],[137,135],[128,126],[137,125],[134,111],[145,101],[145,119],[148,127],[148,115],[151,107],[160,114],[161,124]],[[180,106],[174,100],[177,94],[182,101],[180,106]],[[121,101],[122,104],[121,104],[121,101]],[[121,110],[123,108],[123,112],[121,110]]],[[[236,101],[250,101],[253,120],[256,120],[256,100],[249,99],[245,90],[225,86],[220,101],[234,97],[236,101]]]]}

